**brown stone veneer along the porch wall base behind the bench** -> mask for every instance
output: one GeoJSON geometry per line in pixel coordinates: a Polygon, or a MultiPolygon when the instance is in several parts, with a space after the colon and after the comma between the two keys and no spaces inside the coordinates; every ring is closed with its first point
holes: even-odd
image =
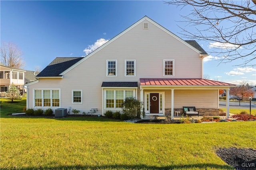
{"type": "MultiPolygon", "coordinates": [[[[199,111],[199,116],[209,115],[209,116],[218,116],[219,115],[219,109],[200,109],[196,108],[199,111]]],[[[183,115],[183,108],[174,108],[175,111],[180,111],[180,114],[183,115]]],[[[165,116],[171,116],[171,108],[165,109],[165,116]]]]}

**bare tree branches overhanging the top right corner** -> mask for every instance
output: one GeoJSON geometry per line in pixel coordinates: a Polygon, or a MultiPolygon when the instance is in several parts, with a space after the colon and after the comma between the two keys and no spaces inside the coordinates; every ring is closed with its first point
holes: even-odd
{"type": "Polygon", "coordinates": [[[243,59],[239,66],[256,66],[256,0],[172,0],[166,4],[192,6],[182,16],[196,33],[182,29],[188,39],[216,42],[210,53],[222,57],[220,63],[243,59]]]}

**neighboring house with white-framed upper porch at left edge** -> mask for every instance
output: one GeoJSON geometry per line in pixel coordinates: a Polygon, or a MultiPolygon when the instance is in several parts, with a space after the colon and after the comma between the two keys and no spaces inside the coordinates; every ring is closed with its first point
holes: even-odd
{"type": "Polygon", "coordinates": [[[1,97],[4,97],[4,92],[7,92],[9,86],[14,83],[18,90],[22,92],[23,85],[25,82],[24,74],[25,70],[20,70],[0,64],[0,87],[1,87],[1,97]]]}

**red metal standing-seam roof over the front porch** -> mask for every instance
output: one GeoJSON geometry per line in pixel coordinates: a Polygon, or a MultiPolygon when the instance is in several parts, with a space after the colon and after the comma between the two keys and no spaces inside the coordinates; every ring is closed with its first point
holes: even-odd
{"type": "Polygon", "coordinates": [[[142,86],[236,86],[236,84],[200,78],[140,78],[142,86]]]}

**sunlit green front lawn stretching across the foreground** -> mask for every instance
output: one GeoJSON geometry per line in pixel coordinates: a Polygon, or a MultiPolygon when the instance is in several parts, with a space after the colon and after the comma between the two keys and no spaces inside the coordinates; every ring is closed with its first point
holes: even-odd
{"type": "MultiPolygon", "coordinates": [[[[256,122],[136,124],[98,117],[1,118],[1,169],[229,169],[256,149],[256,122]]],[[[232,169],[232,168],[231,168],[232,169]]]]}

